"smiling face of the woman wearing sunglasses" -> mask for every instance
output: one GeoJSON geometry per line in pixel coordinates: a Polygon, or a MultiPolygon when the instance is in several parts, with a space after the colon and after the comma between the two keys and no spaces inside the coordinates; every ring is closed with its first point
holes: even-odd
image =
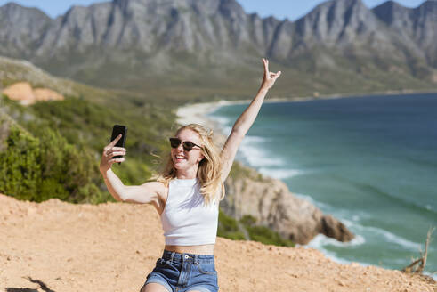
{"type": "MultiPolygon", "coordinates": [[[[181,142],[188,141],[202,146],[199,135],[190,129],[182,129],[175,137],[179,138],[181,142]]],[[[200,148],[195,146],[190,151],[186,151],[183,150],[182,143],[177,148],[172,148],[171,155],[174,168],[178,170],[189,169],[197,165],[204,158],[200,148]]]]}

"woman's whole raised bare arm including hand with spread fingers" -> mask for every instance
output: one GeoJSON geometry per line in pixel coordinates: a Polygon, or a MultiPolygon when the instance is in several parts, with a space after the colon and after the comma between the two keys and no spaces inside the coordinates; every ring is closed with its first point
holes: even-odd
{"type": "Polygon", "coordinates": [[[231,134],[228,136],[228,139],[223,145],[223,150],[220,154],[220,157],[223,161],[223,182],[231,171],[235,155],[237,154],[237,150],[239,150],[239,144],[243,141],[243,138],[249,128],[252,126],[252,124],[254,124],[255,118],[261,109],[261,105],[263,104],[265,94],[267,94],[271,86],[274,85],[276,79],[278,79],[280,76],[280,71],[277,73],[272,73],[269,71],[269,61],[264,58],[263,65],[263,83],[261,84],[258,93],[256,93],[255,98],[250,102],[250,104],[247,106],[247,109],[243,111],[241,116],[239,116],[235,122],[234,126],[232,127],[231,134]]]}

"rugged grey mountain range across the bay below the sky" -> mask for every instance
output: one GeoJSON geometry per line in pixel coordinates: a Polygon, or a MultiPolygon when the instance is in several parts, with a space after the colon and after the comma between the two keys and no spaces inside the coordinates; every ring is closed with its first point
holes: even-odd
{"type": "Polygon", "coordinates": [[[319,4],[299,20],[248,14],[235,0],[113,0],[51,19],[0,7],[0,54],[61,77],[134,91],[259,84],[261,58],[286,73],[279,95],[435,90],[437,1],[319,4]],[[292,92],[292,93],[291,93],[292,92]]]}

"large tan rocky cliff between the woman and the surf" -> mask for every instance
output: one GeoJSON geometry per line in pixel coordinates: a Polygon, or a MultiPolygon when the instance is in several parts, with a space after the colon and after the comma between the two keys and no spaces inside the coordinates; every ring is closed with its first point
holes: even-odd
{"type": "Polygon", "coordinates": [[[295,197],[285,183],[239,167],[245,174],[228,177],[225,183],[226,196],[220,203],[225,214],[236,219],[251,215],[256,224],[298,244],[307,244],[319,233],[339,241],[353,239],[343,223],[331,215],[323,215],[307,200],[295,197]]]}

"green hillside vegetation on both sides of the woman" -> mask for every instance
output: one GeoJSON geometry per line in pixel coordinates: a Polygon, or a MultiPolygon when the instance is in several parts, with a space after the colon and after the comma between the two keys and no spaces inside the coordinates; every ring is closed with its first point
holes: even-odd
{"type": "MultiPolygon", "coordinates": [[[[177,128],[172,110],[177,103],[104,91],[52,77],[29,63],[3,60],[14,64],[13,69],[2,67],[0,60],[0,73],[2,69],[4,75],[7,73],[7,83],[24,77],[33,85],[44,85],[38,81],[43,78],[60,92],[59,84],[69,84],[77,95],[27,107],[5,95],[0,97],[0,192],[36,202],[52,198],[92,204],[115,201],[98,169],[101,151],[109,143],[114,124],[128,126],[126,160],[113,166],[126,185],[146,182],[167,158],[167,137],[177,128]]],[[[219,222],[218,235],[222,237],[294,245],[247,218],[239,222],[221,212],[219,222]]]]}

